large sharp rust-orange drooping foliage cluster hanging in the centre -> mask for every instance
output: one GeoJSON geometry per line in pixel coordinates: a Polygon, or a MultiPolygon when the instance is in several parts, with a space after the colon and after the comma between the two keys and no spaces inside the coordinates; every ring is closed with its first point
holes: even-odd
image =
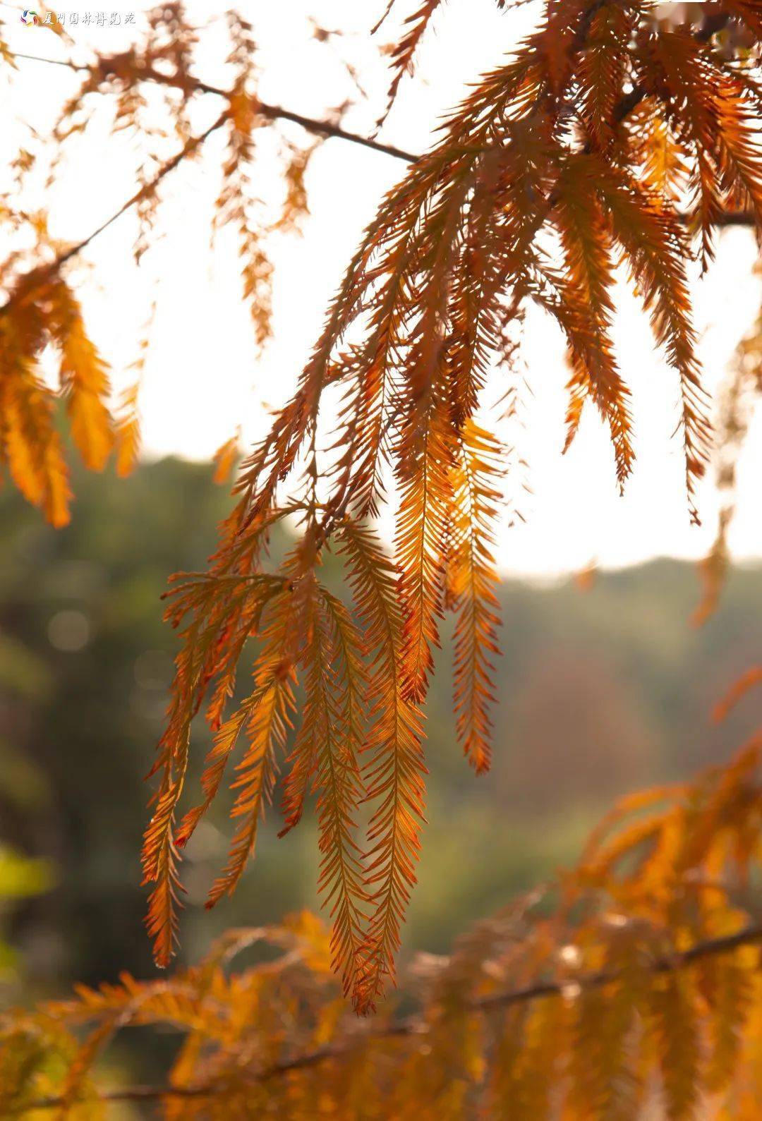
{"type": "MultiPolygon", "coordinates": [[[[437,7],[406,24],[392,96],[437,7]]],[[[161,964],[176,936],[178,849],[230,761],[241,821],[210,904],[238,883],[285,766],[286,828],[317,797],[334,961],[355,1008],[373,1008],[393,978],[424,815],[422,704],[448,610],[457,734],[477,771],[489,765],[491,550],[508,456],[485,406],[514,385],[504,341],[529,303],[568,342],[568,441],[592,400],[624,484],[635,448],[613,316],[615,278],[629,274],[676,372],[696,517],[709,424],[688,271],[710,259],[728,210],[762,216],[758,22],[743,3],[686,25],[656,21],[650,4],[548,3],[382,202],[296,395],[243,464],[210,572],[182,582],[169,608],[184,647],[143,854],[161,964]],[[331,408],[324,420],[327,399],[340,401],[336,423],[331,408]],[[390,558],[373,518],[392,494],[390,558]],[[267,540],[286,518],[299,537],[278,567],[267,540]],[[327,549],[344,562],[349,611],[320,581],[327,549]],[[254,689],[226,712],[258,633],[254,689]],[[178,822],[204,704],[216,736],[204,798],[178,822]]]]}

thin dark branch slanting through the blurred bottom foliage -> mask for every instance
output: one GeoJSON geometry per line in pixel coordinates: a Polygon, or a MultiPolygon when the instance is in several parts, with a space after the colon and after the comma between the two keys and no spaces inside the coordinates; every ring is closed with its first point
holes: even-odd
{"type": "MultiPolygon", "coordinates": [[[[688,949],[676,951],[673,954],[654,957],[649,965],[648,972],[651,974],[672,973],[685,969],[694,962],[704,957],[712,957],[716,954],[728,954],[741,946],[754,945],[762,942],[762,923],[746,926],[735,934],[723,935],[718,938],[706,938],[697,942],[688,949]]],[[[467,1003],[467,1008],[475,1012],[492,1012],[514,1004],[522,1004],[527,1001],[543,1000],[549,997],[560,997],[568,992],[569,986],[578,986],[579,991],[602,989],[612,984],[620,976],[617,971],[598,970],[594,973],[584,973],[579,976],[569,976],[563,981],[540,981],[537,984],[526,985],[522,989],[511,989],[508,992],[490,993],[486,997],[477,997],[467,1003]]],[[[261,1085],[272,1078],[289,1074],[292,1071],[303,1071],[308,1067],[318,1066],[329,1059],[341,1058],[364,1043],[394,1038],[409,1038],[411,1036],[422,1036],[429,1031],[428,1025],[417,1016],[410,1016],[405,1020],[388,1025],[379,1031],[369,1031],[357,1035],[354,1038],[344,1040],[338,1045],[327,1045],[318,1047],[303,1055],[282,1059],[261,1071],[253,1072],[250,1077],[252,1085],[261,1085]]],[[[101,1102],[145,1102],[160,1101],[165,1097],[213,1097],[222,1088],[222,1084],[215,1082],[203,1083],[196,1086],[130,1086],[126,1090],[111,1090],[100,1094],[101,1102]]],[[[26,1110],[53,1110],[64,1104],[63,1097],[40,1097],[30,1102],[22,1109],[26,1110]]],[[[16,1114],[21,1109],[16,1110],[16,1114]]]]}

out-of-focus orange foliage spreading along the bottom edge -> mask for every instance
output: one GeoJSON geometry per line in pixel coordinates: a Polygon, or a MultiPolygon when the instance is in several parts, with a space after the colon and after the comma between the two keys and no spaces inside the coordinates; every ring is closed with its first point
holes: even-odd
{"type": "Polygon", "coordinates": [[[405,1018],[393,1002],[371,1022],[352,1015],[315,917],[230,930],[168,980],[124,976],[6,1016],[0,1114],[96,1119],[123,1097],[173,1121],[753,1121],[761,751],[758,735],[724,769],[624,798],[576,868],[449,957],[415,960],[405,1018]],[[269,951],[231,972],[252,947],[269,951]],[[94,1067],[130,1025],[176,1032],[177,1057],[166,1083],[104,1094],[94,1067]]]}

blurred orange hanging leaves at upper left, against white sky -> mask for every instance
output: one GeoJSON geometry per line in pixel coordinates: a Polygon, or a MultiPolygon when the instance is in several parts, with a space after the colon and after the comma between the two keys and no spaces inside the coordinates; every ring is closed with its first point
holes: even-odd
{"type": "MultiPolygon", "coordinates": [[[[140,447],[139,379],[112,401],[109,372],[87,333],[73,287],[63,278],[69,262],[103,228],[78,243],[62,244],[48,231],[47,214],[18,206],[24,189],[29,184],[34,187],[35,177],[40,175],[48,186],[55,183],[77,139],[87,136],[91,124],[110,111],[112,132],[136,141],[137,191],[114,217],[134,211],[134,259],[140,262],[155,237],[165,177],[180,163],[197,159],[207,137],[222,132],[226,154],[212,229],[215,234],[224,226],[235,230],[242,294],[251,311],[254,341],[262,345],[270,334],[268,239],[297,229],[305,215],[305,172],[320,139],[318,136],[304,147],[280,136],[284,191],[268,210],[252,182],[258,131],[271,118],[263,115],[257,98],[258,45],[251,25],[233,12],[227,17],[231,84],[225,90],[206,86],[192,76],[198,34],[182,4],[159,6],[148,13],[147,25],[140,46],[101,56],[91,66],[73,67],[84,75],[63,105],[44,149],[45,167],[40,170],[39,138],[31,135],[30,148],[19,151],[10,169],[12,184],[0,197],[0,230],[11,245],[0,266],[0,293],[4,295],[0,305],[0,463],[55,526],[68,520],[71,499],[56,423],[58,400],[65,401],[72,439],[86,466],[100,471],[114,450],[117,471],[124,475],[134,465],[140,447]],[[167,94],[160,108],[156,98],[149,96],[155,87],[167,94]],[[203,132],[194,133],[188,121],[194,98],[211,94],[222,101],[222,110],[203,132]],[[171,152],[170,140],[175,151],[166,156],[167,150],[171,152]],[[56,383],[45,377],[47,346],[55,349],[61,361],[56,383]]],[[[56,30],[64,35],[61,25],[56,30]]],[[[16,65],[4,44],[1,58],[4,65],[16,65]]],[[[141,341],[139,369],[145,351],[141,341]]]]}

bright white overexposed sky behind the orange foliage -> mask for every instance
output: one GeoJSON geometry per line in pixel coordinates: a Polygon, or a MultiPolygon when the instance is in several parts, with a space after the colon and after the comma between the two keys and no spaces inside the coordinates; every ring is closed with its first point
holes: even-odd
{"type": "MultiPolygon", "coordinates": [[[[290,109],[320,115],[350,93],[347,77],[331,48],[309,38],[306,17],[324,27],[344,28],[350,36],[341,49],[362,74],[372,94],[345,124],[371,132],[384,89],[384,72],[377,45],[365,35],[384,0],[249,0],[239,4],[262,36],[261,95],[290,109]]],[[[123,17],[150,4],[109,6],[123,17]]],[[[188,3],[199,19],[210,18],[210,6],[188,3]]],[[[403,94],[387,122],[382,139],[421,150],[430,139],[437,117],[454,104],[464,85],[496,64],[517,43],[533,18],[533,4],[499,15],[493,0],[450,0],[437,34],[421,55],[419,78],[403,94]]],[[[118,50],[130,29],[84,27],[82,15],[97,9],[89,3],[62,4],[61,11],[81,13],[80,25],[64,26],[74,43],[61,43],[49,31],[26,28],[20,8],[1,4],[3,35],[19,52],[49,58],[84,61],[89,48],[118,50]]],[[[132,28],[133,36],[139,34],[132,28]]],[[[198,76],[222,81],[215,52],[215,33],[208,33],[208,63],[198,76]]],[[[15,154],[22,133],[8,128],[20,118],[40,131],[49,126],[56,108],[76,86],[63,67],[19,62],[10,85],[10,112],[4,114],[0,161],[15,154]],[[4,151],[2,150],[4,148],[4,151]]],[[[6,93],[2,92],[3,98],[6,93]]],[[[210,98],[194,124],[199,129],[219,112],[210,98]]],[[[298,132],[298,130],[297,130],[298,132]]],[[[297,135],[297,133],[295,133],[297,135]]],[[[174,141],[171,142],[174,145],[174,141]]],[[[167,148],[167,154],[174,147],[167,148]]],[[[105,356],[112,362],[117,386],[129,381],[126,365],[136,358],[140,326],[156,284],[158,313],[142,390],[143,435],[147,454],[176,453],[208,457],[242,426],[244,441],[260,436],[268,423],[263,402],[281,404],[290,393],[310,344],[322,324],[327,300],[372,216],[382,192],[403,172],[387,156],[340,140],[329,140],[314,160],[308,188],[312,217],[301,238],[273,247],[277,263],[275,340],[261,359],[254,359],[248,316],[241,306],[234,248],[223,242],[208,252],[208,217],[219,186],[221,145],[213,138],[205,160],[174,173],[167,180],[166,205],[159,219],[161,242],[134,268],[130,257],[134,224],[121,219],[87,251],[92,277],[85,307],[89,324],[105,356]],[[95,279],[97,278],[97,287],[95,279]]],[[[48,200],[56,235],[75,241],[108,217],[134,189],[130,149],[104,127],[95,141],[77,150],[48,200]]],[[[268,167],[262,161],[263,189],[268,167]]],[[[270,173],[272,175],[272,173],[270,173]]],[[[706,385],[722,379],[728,358],[760,307],[760,282],[752,276],[756,249],[744,230],[726,231],[713,270],[696,287],[697,325],[706,385]]],[[[564,386],[567,372],[564,346],[555,327],[539,313],[530,315],[524,339],[529,389],[523,393],[523,430],[519,451],[527,461],[531,494],[517,493],[524,525],[505,528],[499,562],[507,572],[551,576],[579,569],[591,562],[620,566],[659,555],[696,557],[706,552],[714,535],[716,500],[707,488],[701,497],[701,529],[688,525],[684,465],[677,421],[676,374],[654,354],[648,323],[626,294],[622,294],[617,343],[623,373],[633,391],[638,463],[624,498],[615,488],[606,434],[588,409],[573,448],[560,455],[564,443],[564,386]]],[[[762,556],[762,521],[754,483],[762,469],[762,417],[758,416],[740,471],[740,510],[731,544],[738,559],[762,556]]],[[[517,488],[518,490],[518,488],[517,488]]],[[[514,492],[515,493],[515,492],[514,492]]]]}

